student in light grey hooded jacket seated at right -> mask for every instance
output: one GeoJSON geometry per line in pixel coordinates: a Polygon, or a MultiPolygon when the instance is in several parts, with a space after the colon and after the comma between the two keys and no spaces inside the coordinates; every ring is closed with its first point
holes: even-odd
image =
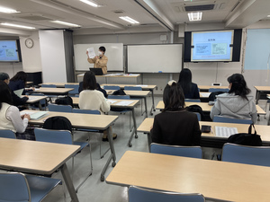
{"type": "Polygon", "coordinates": [[[229,92],[217,96],[217,101],[211,108],[210,117],[226,116],[234,119],[252,119],[253,123],[257,120],[256,104],[253,96],[248,95],[250,91],[243,75],[230,75],[229,92]]]}

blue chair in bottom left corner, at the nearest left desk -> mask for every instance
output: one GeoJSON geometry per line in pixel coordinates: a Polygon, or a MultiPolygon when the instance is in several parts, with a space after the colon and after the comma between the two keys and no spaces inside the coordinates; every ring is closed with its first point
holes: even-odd
{"type": "Polygon", "coordinates": [[[17,172],[0,173],[0,181],[0,201],[38,202],[62,184],[61,180],[17,172]]]}

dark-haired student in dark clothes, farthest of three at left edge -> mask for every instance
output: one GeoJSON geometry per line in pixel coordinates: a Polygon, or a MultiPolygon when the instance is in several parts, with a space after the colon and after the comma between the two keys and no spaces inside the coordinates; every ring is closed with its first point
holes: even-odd
{"type": "MultiPolygon", "coordinates": [[[[27,74],[23,71],[17,72],[16,75],[14,75],[14,77],[12,77],[10,79],[9,82],[9,87],[12,91],[17,91],[20,89],[24,89],[25,85],[26,85],[26,80],[27,80],[27,74]]],[[[25,94],[25,92],[31,92],[33,89],[31,88],[31,90],[23,90],[23,94],[25,94]]]]}

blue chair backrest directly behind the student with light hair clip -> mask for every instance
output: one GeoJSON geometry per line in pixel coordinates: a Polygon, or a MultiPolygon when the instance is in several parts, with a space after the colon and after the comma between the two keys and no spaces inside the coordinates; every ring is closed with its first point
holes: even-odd
{"type": "Polygon", "coordinates": [[[150,153],[177,155],[202,159],[201,146],[179,146],[179,145],[161,145],[152,143],[150,153]]]}

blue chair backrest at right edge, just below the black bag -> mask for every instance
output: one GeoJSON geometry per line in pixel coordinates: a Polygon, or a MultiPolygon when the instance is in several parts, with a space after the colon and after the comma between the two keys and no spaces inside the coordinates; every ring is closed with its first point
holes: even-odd
{"type": "Polygon", "coordinates": [[[222,149],[222,161],[270,166],[270,146],[247,146],[226,143],[222,149]]]}

